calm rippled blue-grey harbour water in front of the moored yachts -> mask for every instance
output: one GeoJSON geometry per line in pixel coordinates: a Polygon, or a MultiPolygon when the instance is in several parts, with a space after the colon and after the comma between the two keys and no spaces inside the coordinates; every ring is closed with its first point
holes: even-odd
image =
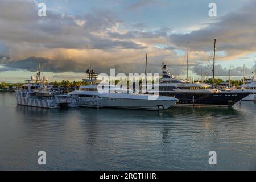
{"type": "Polygon", "coordinates": [[[156,111],[17,106],[0,93],[0,169],[256,169],[256,105],[156,111]],[[38,165],[38,151],[47,165],[38,165]],[[217,165],[208,163],[217,152],[217,165]]]}

